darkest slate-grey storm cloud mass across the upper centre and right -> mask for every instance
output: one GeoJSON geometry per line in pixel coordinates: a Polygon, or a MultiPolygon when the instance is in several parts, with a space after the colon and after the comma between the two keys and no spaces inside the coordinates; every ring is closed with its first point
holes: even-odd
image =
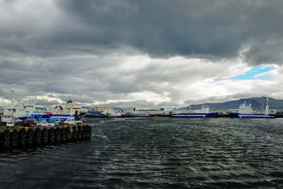
{"type": "Polygon", "coordinates": [[[255,64],[282,59],[283,1],[58,1],[58,6],[81,26],[54,36],[60,42],[122,44],[165,57],[230,58],[246,49],[243,55],[255,64]]]}

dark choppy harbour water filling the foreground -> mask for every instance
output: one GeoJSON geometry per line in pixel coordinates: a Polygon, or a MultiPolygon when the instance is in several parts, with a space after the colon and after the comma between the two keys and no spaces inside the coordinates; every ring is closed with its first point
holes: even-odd
{"type": "Polygon", "coordinates": [[[0,188],[283,188],[283,119],[88,118],[89,140],[0,154],[0,188]]]}

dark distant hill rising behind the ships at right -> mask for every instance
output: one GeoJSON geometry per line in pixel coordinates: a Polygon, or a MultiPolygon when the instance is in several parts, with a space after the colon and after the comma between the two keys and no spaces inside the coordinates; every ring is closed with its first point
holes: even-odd
{"type": "MultiPolygon", "coordinates": [[[[240,104],[243,102],[247,102],[247,104],[252,105],[252,108],[255,108],[255,110],[262,110],[262,104],[264,104],[264,108],[266,105],[266,98],[268,97],[261,97],[261,98],[241,98],[236,101],[227,101],[224,103],[204,103],[205,106],[209,106],[209,109],[214,112],[225,112],[228,111],[229,109],[237,109],[240,104]]],[[[283,110],[283,100],[276,100],[273,98],[268,98],[269,103],[270,103],[270,109],[276,109],[277,111],[282,111],[283,110]]],[[[202,108],[202,104],[196,104],[196,105],[190,105],[192,109],[200,109],[202,108]]],[[[185,110],[189,108],[183,107],[180,108],[180,110],[185,110]]]]}

